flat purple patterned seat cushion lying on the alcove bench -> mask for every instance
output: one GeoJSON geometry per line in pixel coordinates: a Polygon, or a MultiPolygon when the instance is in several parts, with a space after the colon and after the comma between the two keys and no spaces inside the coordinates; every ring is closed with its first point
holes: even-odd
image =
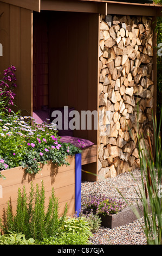
{"type": "Polygon", "coordinates": [[[72,136],[62,136],[60,141],[62,143],[72,143],[75,145],[77,148],[83,149],[83,148],[88,148],[92,145],[94,145],[93,142],[88,141],[88,139],[81,139],[77,137],[72,137],[72,136]]]}

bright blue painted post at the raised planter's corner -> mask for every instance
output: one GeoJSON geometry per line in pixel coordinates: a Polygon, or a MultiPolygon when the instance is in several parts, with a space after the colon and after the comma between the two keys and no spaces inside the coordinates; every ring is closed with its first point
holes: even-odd
{"type": "Polygon", "coordinates": [[[81,209],[82,155],[75,154],[75,212],[79,217],[81,209]]]}

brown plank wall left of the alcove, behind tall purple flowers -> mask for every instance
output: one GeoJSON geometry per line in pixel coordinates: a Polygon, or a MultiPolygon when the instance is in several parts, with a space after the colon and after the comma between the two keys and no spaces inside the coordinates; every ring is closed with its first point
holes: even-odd
{"type": "Polygon", "coordinates": [[[14,65],[17,68],[16,105],[23,114],[31,114],[33,101],[33,13],[31,10],[0,2],[0,57],[1,78],[3,70],[14,65]],[[3,13],[3,14],[2,14],[3,13]]]}

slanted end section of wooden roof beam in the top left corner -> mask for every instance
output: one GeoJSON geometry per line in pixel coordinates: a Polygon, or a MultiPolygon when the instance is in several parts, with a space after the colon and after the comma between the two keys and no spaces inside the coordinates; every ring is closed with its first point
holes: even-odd
{"type": "Polygon", "coordinates": [[[25,9],[38,11],[41,10],[41,0],[1,0],[3,3],[16,5],[25,9]]]}

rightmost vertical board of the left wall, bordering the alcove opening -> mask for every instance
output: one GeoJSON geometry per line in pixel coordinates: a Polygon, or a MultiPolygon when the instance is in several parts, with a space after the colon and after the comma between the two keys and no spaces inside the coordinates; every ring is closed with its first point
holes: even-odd
{"type": "Polygon", "coordinates": [[[33,109],[33,13],[21,8],[21,99],[22,114],[33,109]]]}

